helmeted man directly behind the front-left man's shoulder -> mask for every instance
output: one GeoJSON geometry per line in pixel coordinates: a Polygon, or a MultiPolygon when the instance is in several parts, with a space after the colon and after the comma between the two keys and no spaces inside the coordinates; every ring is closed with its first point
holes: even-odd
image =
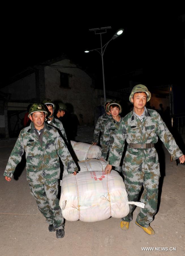
{"type": "Polygon", "coordinates": [[[49,112],[49,116],[47,117],[48,119],[47,123],[58,130],[65,144],[67,144],[67,136],[66,136],[63,124],[59,119],[54,117],[54,111],[56,109],[55,104],[50,99],[42,100],[42,104],[46,106],[46,109],[48,109],[48,112],[49,112]]]}

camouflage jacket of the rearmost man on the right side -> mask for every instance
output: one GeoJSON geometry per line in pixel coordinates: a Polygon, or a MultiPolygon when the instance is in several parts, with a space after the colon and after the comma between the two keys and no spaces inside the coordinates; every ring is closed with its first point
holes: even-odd
{"type": "Polygon", "coordinates": [[[100,144],[102,144],[104,125],[107,122],[108,117],[109,117],[109,115],[107,115],[105,113],[104,115],[101,115],[98,118],[98,121],[97,121],[95,129],[94,129],[94,142],[99,143],[99,135],[100,135],[100,132],[101,132],[100,144]]]}

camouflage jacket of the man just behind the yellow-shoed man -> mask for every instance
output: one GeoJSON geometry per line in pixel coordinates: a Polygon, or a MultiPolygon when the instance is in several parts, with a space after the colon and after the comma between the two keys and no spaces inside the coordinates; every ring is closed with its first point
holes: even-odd
{"type": "Polygon", "coordinates": [[[101,143],[101,156],[106,159],[109,153],[109,146],[114,141],[114,137],[116,132],[118,131],[119,125],[123,117],[120,118],[120,121],[115,121],[112,115],[109,115],[107,121],[104,125],[104,132],[102,136],[102,143],[101,143]]]}

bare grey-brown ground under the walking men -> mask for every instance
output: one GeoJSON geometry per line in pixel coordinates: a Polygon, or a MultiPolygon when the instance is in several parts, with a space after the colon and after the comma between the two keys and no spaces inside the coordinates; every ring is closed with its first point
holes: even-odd
{"type": "MultiPolygon", "coordinates": [[[[81,130],[76,140],[90,142],[92,134],[93,129],[81,130]]],[[[170,162],[163,146],[159,154],[159,209],[151,223],[154,236],[135,225],[140,210],[137,207],[128,231],[121,230],[120,219],[116,218],[92,223],[66,221],[65,236],[57,239],[55,232],[48,232],[48,224],[30,194],[25,169],[20,173],[24,163],[18,166],[11,182],[4,179],[15,141],[0,141],[0,255],[185,255],[185,165],[170,162]],[[142,247],[154,247],[155,251],[142,251],[142,247]],[[171,247],[176,251],[163,251],[171,247]]]]}

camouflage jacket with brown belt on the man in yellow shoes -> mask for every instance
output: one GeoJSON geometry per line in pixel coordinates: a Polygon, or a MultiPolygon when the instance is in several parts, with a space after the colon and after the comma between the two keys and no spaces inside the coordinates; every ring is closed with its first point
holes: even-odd
{"type": "MultiPolygon", "coordinates": [[[[145,108],[143,122],[141,122],[131,111],[122,119],[114,142],[110,146],[109,164],[113,166],[120,165],[125,139],[127,143],[145,144],[156,143],[158,136],[174,159],[183,155],[158,112],[145,108]]],[[[154,147],[148,149],[127,147],[123,167],[125,165],[128,170],[129,162],[135,162],[136,164],[144,162],[146,169],[160,174],[158,154],[154,147]]]]}

